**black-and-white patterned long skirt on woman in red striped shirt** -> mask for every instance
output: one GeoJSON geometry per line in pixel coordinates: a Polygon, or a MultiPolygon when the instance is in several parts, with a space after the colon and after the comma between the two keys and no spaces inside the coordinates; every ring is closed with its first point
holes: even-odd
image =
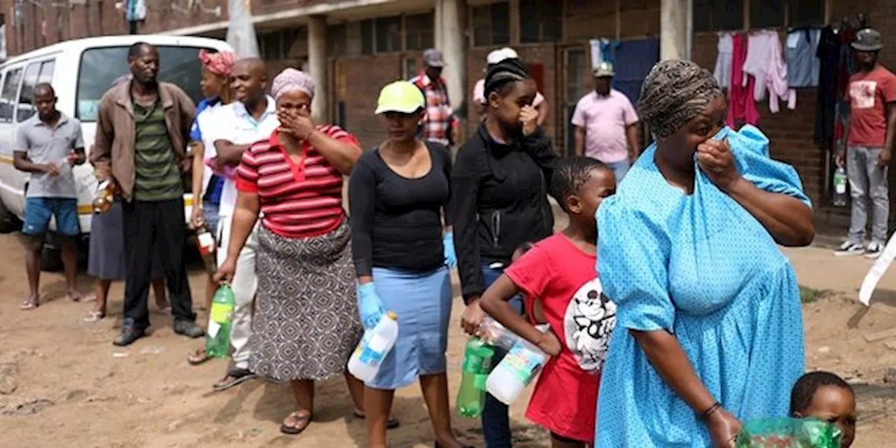
{"type": "Polygon", "coordinates": [[[346,371],[361,337],[349,225],[320,237],[258,228],[258,292],[249,369],[277,380],[324,380],[346,371]]]}

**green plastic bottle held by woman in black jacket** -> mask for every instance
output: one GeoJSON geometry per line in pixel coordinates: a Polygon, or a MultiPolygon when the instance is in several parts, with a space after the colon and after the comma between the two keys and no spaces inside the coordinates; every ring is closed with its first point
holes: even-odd
{"type": "Polygon", "coordinates": [[[472,338],[467,342],[463,358],[461,390],[457,392],[457,413],[461,417],[478,418],[486,405],[486,380],[492,367],[495,349],[472,338]]]}

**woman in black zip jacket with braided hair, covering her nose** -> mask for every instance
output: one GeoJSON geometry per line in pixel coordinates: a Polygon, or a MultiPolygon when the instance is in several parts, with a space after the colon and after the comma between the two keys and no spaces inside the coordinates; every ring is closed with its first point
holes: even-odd
{"type": "MultiPolygon", "coordinates": [[[[513,251],[554,230],[545,179],[553,173],[556,153],[531,106],[537,91],[519,59],[490,67],[486,119],[454,162],[454,246],[467,304],[461,323],[470,334],[478,332],[485,316],[479,296],[501,275],[513,251]]],[[[521,313],[520,297],[512,303],[521,313]]],[[[482,428],[488,448],[511,446],[507,407],[491,395],[482,428]]]]}

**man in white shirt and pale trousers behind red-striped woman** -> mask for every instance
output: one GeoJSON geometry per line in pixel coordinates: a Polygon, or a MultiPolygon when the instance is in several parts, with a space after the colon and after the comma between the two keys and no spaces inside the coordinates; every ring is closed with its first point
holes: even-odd
{"type": "MultiPolygon", "coordinates": [[[[252,143],[267,139],[280,127],[277,119],[277,105],[274,99],[264,94],[267,89],[267,75],[261,59],[247,58],[237,61],[233,68],[231,93],[234,102],[215,111],[216,125],[208,133],[206,157],[212,159],[215,171],[225,177],[224,190],[220,200],[220,221],[218,225],[218,264],[227,258],[230,226],[233,211],[237,205],[237,185],[233,177],[228,177],[243,157],[243,152],[252,143]]],[[[203,140],[205,134],[203,131],[203,140]]],[[[255,228],[257,230],[257,226],[255,228]]],[[[215,391],[223,391],[246,380],[254,378],[249,371],[248,341],[252,334],[252,301],[258,279],[255,276],[255,252],[258,239],[255,230],[246,240],[246,246],[239,253],[237,271],[230,287],[236,300],[230,344],[233,346],[232,364],[228,373],[218,383],[215,391]]]]}

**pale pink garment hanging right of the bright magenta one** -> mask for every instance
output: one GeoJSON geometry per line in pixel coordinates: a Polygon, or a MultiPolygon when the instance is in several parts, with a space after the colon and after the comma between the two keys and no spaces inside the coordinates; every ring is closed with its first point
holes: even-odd
{"type": "Polygon", "coordinates": [[[768,92],[772,114],[780,110],[779,99],[787,99],[789,109],[797,108],[797,91],[788,85],[787,64],[778,31],[762,30],[750,34],[741,85],[746,85],[748,74],[756,79],[753,98],[762,101],[768,92]]]}

